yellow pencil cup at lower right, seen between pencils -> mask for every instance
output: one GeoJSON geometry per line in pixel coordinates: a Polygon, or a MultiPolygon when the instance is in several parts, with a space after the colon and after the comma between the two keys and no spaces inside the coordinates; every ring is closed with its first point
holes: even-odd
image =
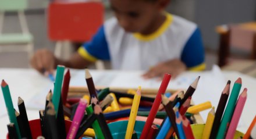
{"type": "MultiPolygon", "coordinates": [[[[191,129],[193,131],[194,137],[195,138],[202,138],[202,133],[204,131],[204,126],[205,124],[191,124],[191,129]]],[[[236,131],[236,133],[234,134],[234,138],[240,138],[243,137],[244,134],[241,133],[240,131],[236,131]]]]}

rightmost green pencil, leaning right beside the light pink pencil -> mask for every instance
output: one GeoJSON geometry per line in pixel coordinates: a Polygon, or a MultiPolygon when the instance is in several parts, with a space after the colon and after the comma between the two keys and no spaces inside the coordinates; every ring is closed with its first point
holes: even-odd
{"type": "Polygon", "coordinates": [[[242,84],[241,78],[237,79],[236,82],[234,82],[234,86],[230,94],[229,102],[227,102],[227,107],[222,117],[221,125],[219,126],[219,131],[216,138],[225,138],[225,134],[229,127],[230,120],[233,116],[234,107],[236,106],[236,101],[241,89],[241,84],[242,84]]]}

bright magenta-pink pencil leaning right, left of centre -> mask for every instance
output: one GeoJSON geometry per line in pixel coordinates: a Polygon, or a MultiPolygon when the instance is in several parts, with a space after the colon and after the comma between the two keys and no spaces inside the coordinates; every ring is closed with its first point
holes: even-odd
{"type": "Polygon", "coordinates": [[[80,122],[84,116],[84,110],[86,109],[87,101],[86,99],[80,99],[79,105],[76,108],[76,113],[74,113],[74,119],[70,126],[69,133],[67,133],[67,139],[73,139],[76,137],[77,130],[79,129],[80,122]]]}

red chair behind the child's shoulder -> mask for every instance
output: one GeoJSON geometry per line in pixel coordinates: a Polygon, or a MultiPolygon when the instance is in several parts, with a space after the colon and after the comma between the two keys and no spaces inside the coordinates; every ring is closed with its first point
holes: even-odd
{"type": "MultiPolygon", "coordinates": [[[[69,57],[70,46],[65,44],[90,41],[103,20],[104,7],[101,2],[49,3],[48,37],[56,41],[55,55],[69,57]]],[[[104,69],[100,61],[96,62],[96,67],[104,69]]]]}

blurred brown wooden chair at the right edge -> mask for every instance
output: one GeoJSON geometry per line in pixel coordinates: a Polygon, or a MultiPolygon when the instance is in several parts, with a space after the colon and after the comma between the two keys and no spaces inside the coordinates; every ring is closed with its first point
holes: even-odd
{"type": "Polygon", "coordinates": [[[230,48],[250,52],[250,59],[256,59],[256,22],[218,26],[219,34],[219,66],[228,63],[230,48]]]}

